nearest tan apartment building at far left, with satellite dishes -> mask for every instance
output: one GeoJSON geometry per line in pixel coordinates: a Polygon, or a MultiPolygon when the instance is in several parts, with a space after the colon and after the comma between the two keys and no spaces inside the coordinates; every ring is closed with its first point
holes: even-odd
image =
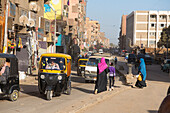
{"type": "MultiPolygon", "coordinates": [[[[4,44],[4,36],[1,35],[0,46],[5,48],[4,52],[17,56],[19,71],[30,74],[31,68],[36,65],[39,17],[44,13],[44,0],[10,0],[8,2],[7,4],[7,0],[0,0],[1,10],[4,12],[4,14],[1,13],[1,18],[8,22],[7,32],[5,32],[7,44],[4,44]],[[8,5],[8,12],[5,5],[8,5]],[[5,12],[8,13],[7,18],[5,12]]],[[[4,28],[0,28],[1,31],[2,29],[4,28]]]]}

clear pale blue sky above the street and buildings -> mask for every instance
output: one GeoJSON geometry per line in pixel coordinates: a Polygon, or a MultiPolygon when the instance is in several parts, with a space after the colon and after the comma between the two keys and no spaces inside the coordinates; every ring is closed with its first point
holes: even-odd
{"type": "Polygon", "coordinates": [[[87,17],[98,20],[101,32],[118,44],[121,16],[135,10],[170,11],[170,0],[87,0],[87,17]]]}

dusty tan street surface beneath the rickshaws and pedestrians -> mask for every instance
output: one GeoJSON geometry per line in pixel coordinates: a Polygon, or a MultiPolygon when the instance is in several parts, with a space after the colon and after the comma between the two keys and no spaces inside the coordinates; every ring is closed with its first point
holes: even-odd
{"type": "MultiPolygon", "coordinates": [[[[118,59],[118,64],[125,63],[123,58],[118,59]]],[[[72,94],[61,94],[51,101],[39,94],[37,77],[29,76],[21,81],[20,97],[16,102],[0,100],[1,113],[154,113],[166,95],[170,79],[159,65],[148,65],[147,70],[147,88],[132,89],[122,85],[117,77],[114,91],[98,95],[93,94],[94,83],[84,83],[84,79],[72,71],[72,94]]]]}

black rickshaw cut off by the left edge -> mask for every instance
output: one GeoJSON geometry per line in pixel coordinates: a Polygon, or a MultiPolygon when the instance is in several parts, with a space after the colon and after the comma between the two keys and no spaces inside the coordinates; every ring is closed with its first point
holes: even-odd
{"type": "Polygon", "coordinates": [[[19,97],[18,59],[13,54],[0,53],[0,95],[16,101],[19,97]]]}

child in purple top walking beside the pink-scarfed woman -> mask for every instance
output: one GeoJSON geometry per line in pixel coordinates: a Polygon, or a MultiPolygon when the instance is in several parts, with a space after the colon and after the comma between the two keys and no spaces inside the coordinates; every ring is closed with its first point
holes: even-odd
{"type": "Polygon", "coordinates": [[[109,66],[109,91],[113,90],[114,82],[115,82],[116,71],[113,67],[113,62],[109,66]]]}

